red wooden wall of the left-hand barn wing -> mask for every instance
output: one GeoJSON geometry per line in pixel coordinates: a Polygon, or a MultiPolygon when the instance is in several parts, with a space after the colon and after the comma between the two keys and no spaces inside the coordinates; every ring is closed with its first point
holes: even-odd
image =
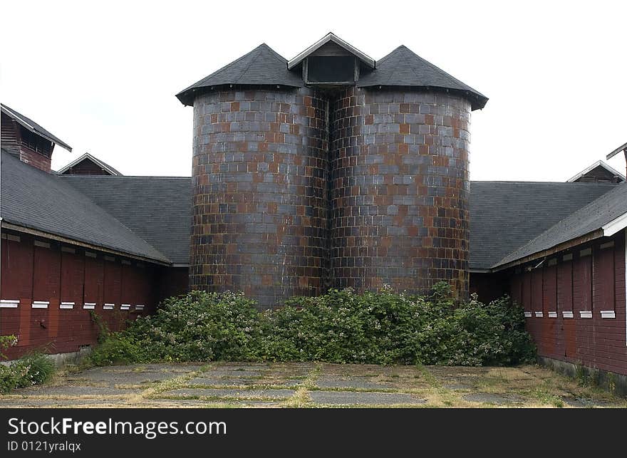
{"type": "Polygon", "coordinates": [[[9,359],[31,350],[68,353],[93,345],[98,326],[86,303],[94,303],[93,311],[118,331],[126,320],[154,311],[160,299],[154,285],[161,268],[134,259],[4,230],[0,257],[0,335],[19,339],[4,351],[9,359]]]}

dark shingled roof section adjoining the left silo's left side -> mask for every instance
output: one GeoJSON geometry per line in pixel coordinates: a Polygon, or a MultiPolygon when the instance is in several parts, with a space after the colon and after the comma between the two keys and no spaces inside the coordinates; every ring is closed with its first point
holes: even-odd
{"type": "Polygon", "coordinates": [[[62,175],[174,264],[190,260],[192,179],[62,175]]]}

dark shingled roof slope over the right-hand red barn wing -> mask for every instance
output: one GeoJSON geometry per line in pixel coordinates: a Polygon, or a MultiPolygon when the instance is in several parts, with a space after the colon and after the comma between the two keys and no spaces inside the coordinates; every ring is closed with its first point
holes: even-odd
{"type": "MultiPolygon", "coordinates": [[[[627,184],[623,183],[616,185],[610,192],[603,194],[598,199],[595,199],[594,202],[562,219],[516,251],[504,256],[494,267],[504,266],[532,254],[554,248],[566,241],[599,231],[606,224],[626,214],[627,184]]],[[[597,236],[603,236],[603,231],[599,231],[597,236]]]]}

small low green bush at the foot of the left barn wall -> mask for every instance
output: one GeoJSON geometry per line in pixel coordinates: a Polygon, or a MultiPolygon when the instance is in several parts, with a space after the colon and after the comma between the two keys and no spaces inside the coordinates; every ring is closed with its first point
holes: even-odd
{"type": "Polygon", "coordinates": [[[54,374],[54,363],[42,353],[31,353],[11,365],[0,365],[0,392],[41,385],[54,374]]]}

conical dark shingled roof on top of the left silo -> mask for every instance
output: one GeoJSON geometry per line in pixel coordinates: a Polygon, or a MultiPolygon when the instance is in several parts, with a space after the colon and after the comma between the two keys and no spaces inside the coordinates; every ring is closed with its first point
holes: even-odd
{"type": "Polygon", "coordinates": [[[303,80],[287,69],[287,60],[266,43],[254,48],[236,61],[202,78],[177,94],[184,105],[194,105],[194,98],[203,88],[217,85],[283,85],[300,88],[303,80]]]}

